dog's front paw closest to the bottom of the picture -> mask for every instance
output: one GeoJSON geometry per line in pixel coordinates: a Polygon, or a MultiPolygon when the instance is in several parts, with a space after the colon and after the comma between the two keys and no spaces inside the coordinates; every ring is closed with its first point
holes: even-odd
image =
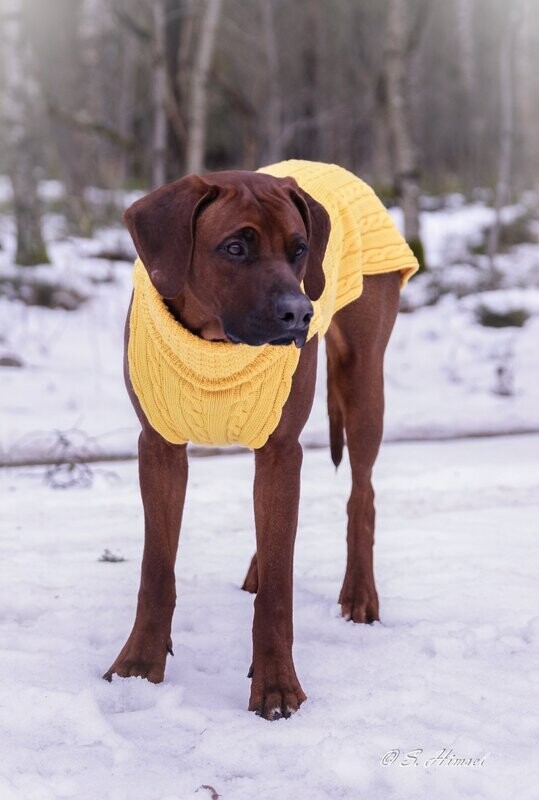
{"type": "Polygon", "coordinates": [[[288,719],[307,695],[300,686],[292,661],[283,664],[268,661],[260,668],[253,666],[249,711],[268,720],[288,719]]]}

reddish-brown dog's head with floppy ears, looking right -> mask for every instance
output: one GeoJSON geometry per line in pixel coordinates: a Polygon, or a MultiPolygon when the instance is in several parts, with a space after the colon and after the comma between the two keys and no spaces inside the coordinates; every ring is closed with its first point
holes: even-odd
{"type": "Polygon", "coordinates": [[[293,178],[189,175],[138,200],[125,221],[155,288],[195,332],[206,325],[230,342],[305,343],[330,222],[293,178]],[[200,325],[189,325],[193,314],[200,325]]]}

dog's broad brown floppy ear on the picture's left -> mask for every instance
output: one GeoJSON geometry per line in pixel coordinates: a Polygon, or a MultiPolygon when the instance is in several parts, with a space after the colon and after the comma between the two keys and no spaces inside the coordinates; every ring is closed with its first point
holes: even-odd
{"type": "Polygon", "coordinates": [[[193,253],[197,215],[218,189],[198,175],[160,186],[124,214],[137,253],[162,297],[181,291],[193,253]]]}

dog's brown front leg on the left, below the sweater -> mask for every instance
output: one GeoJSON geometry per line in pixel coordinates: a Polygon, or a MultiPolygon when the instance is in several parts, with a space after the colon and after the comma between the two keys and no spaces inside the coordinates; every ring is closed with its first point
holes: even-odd
{"type": "Polygon", "coordinates": [[[144,554],[133,630],[103,675],[140,676],[160,683],[176,604],[174,563],[187,484],[185,445],[171,445],[146,428],[139,439],[139,476],[144,505],[144,554]]]}

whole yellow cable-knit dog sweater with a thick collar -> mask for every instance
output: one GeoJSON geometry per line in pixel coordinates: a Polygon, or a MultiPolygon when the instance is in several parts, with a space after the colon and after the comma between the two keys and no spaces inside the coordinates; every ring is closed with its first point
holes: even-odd
{"type": "MultiPolygon", "coordinates": [[[[373,190],[341,167],[284,161],[260,172],[293,176],[331,219],[324,258],[326,286],[313,303],[309,339],[357,299],[363,275],[417,271],[412,251],[373,190]]],[[[300,351],[288,346],[208,342],[169,312],[137,259],[130,316],[129,374],[150,424],[174,444],[262,447],[290,393],[300,351]]]]}

